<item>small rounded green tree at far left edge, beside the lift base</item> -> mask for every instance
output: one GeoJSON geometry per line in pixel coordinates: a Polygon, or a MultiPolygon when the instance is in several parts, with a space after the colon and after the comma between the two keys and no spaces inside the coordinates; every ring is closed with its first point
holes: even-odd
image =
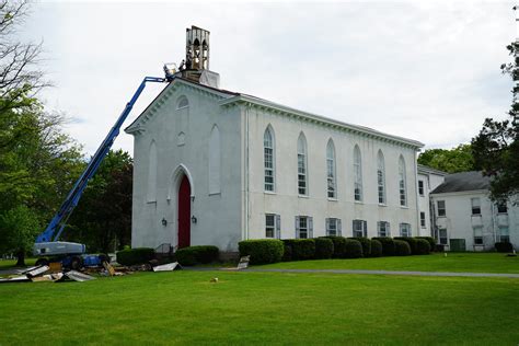
{"type": "Polygon", "coordinates": [[[34,210],[19,205],[0,215],[0,252],[16,254],[18,266],[25,265],[25,253],[41,232],[39,220],[34,210]]]}

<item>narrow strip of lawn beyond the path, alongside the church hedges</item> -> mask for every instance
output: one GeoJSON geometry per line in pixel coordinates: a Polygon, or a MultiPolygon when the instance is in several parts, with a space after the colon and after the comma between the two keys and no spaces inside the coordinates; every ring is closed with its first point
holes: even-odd
{"type": "Polygon", "coordinates": [[[503,253],[435,253],[423,256],[395,256],[355,260],[281,262],[255,266],[284,269],[370,269],[417,272],[519,273],[519,256],[503,253]]]}

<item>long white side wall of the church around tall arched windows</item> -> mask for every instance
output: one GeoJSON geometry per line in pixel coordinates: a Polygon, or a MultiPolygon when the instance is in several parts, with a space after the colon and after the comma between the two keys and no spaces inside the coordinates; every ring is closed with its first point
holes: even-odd
{"type": "Polygon", "coordinates": [[[410,223],[417,235],[416,152],[414,148],[366,134],[345,131],[309,120],[297,119],[268,109],[251,108],[250,117],[250,215],[249,238],[265,238],[265,214],[281,216],[281,238],[295,238],[295,217],[313,217],[313,235],[325,235],[325,218],[339,218],[343,235],[351,237],[354,219],[367,220],[368,237],[377,237],[377,221],[389,221],[391,235],[400,235],[399,224],[410,223]],[[264,192],[263,136],[270,125],[275,132],[276,191],[264,192]],[[308,143],[308,197],[298,195],[297,141],[303,131],[308,143]],[[336,153],[337,198],[326,195],[326,145],[332,138],[336,153]],[[364,201],[354,200],[354,147],[362,158],[364,201]],[[385,161],[387,205],[378,204],[377,154],[382,150],[385,161]],[[407,207],[400,206],[399,157],[406,166],[407,207]]]}

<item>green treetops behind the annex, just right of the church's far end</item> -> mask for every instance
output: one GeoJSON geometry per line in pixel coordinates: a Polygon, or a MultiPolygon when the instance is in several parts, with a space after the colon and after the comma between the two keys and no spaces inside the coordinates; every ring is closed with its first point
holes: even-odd
{"type": "Polygon", "coordinates": [[[474,171],[471,145],[459,145],[450,150],[429,149],[418,157],[418,163],[447,173],[474,171]]]}

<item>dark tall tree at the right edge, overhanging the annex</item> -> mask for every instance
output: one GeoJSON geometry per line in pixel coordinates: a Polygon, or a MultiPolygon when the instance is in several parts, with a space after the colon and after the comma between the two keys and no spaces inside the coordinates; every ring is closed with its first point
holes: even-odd
{"type": "Polygon", "coordinates": [[[519,196],[519,43],[507,46],[512,62],[501,65],[501,72],[514,82],[510,119],[486,118],[480,134],[472,139],[475,168],[491,176],[491,198],[496,201],[519,196]]]}

